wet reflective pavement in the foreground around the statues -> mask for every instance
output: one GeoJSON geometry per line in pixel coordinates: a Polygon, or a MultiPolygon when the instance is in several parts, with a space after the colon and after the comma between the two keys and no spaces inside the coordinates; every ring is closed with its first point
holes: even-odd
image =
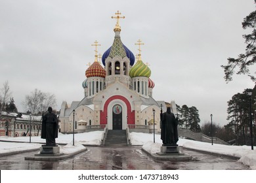
{"type": "Polygon", "coordinates": [[[193,157],[192,161],[171,162],[154,160],[141,147],[87,147],[87,152],[62,161],[30,161],[24,157],[36,152],[27,152],[0,158],[1,170],[247,170],[249,167],[237,160],[202,154],[182,149],[193,157]]]}

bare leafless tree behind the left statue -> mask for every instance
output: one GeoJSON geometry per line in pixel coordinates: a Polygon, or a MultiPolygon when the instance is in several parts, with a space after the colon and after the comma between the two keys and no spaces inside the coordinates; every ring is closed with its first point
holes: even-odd
{"type": "Polygon", "coordinates": [[[56,97],[54,94],[35,89],[30,95],[26,95],[22,103],[32,114],[41,114],[47,111],[49,106],[56,107],[56,97]]]}

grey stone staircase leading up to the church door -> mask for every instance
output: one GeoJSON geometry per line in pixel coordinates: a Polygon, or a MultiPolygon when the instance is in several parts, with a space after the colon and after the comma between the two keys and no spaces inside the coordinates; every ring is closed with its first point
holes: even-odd
{"type": "Polygon", "coordinates": [[[108,130],[104,146],[127,146],[126,130],[108,130]]]}

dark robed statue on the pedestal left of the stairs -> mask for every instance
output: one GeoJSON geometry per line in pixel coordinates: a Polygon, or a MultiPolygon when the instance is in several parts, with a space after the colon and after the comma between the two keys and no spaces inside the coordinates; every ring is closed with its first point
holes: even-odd
{"type": "Polygon", "coordinates": [[[58,118],[49,107],[43,115],[41,139],[46,139],[46,146],[56,146],[55,138],[58,138],[58,118]]]}

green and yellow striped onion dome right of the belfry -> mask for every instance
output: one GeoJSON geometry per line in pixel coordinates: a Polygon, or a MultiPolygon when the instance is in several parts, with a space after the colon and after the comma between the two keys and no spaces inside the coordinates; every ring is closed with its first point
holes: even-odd
{"type": "Polygon", "coordinates": [[[129,75],[131,76],[131,78],[139,77],[139,76],[144,76],[149,78],[151,75],[151,71],[148,68],[148,66],[143,63],[143,61],[138,60],[137,63],[133,65],[133,67],[131,67],[129,75]]]}

